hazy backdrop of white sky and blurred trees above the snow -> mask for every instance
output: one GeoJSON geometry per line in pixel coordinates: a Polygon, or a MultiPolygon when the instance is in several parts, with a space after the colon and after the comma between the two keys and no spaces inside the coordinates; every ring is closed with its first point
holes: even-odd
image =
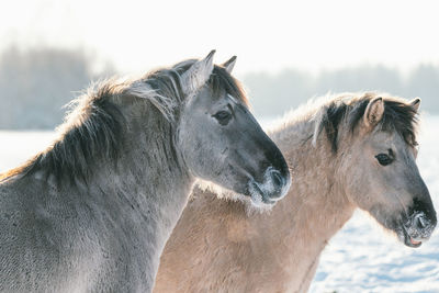
{"type": "Polygon", "coordinates": [[[379,90],[439,113],[435,1],[53,1],[0,10],[0,128],[52,129],[92,80],[217,49],[258,117],[379,90]]]}

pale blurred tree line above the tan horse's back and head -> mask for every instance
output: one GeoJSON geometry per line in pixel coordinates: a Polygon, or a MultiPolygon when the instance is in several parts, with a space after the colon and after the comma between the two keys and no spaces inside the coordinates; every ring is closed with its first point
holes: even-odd
{"type": "Polygon", "coordinates": [[[278,75],[250,74],[243,81],[259,117],[282,114],[313,97],[346,91],[419,97],[424,112],[439,114],[439,67],[432,65],[419,65],[405,76],[384,66],[358,66],[322,71],[317,76],[292,69],[278,75]]]}

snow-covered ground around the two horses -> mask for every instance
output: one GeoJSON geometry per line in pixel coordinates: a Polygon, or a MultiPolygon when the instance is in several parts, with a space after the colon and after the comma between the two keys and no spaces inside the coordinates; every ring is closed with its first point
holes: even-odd
{"type": "MultiPolygon", "coordinates": [[[[439,116],[425,117],[418,166],[439,210],[439,116]]],[[[53,132],[0,132],[0,172],[44,149],[53,132]]],[[[439,228],[438,228],[439,230],[439,228]]],[[[439,292],[439,232],[418,249],[356,213],[320,258],[311,292],[439,292]]]]}

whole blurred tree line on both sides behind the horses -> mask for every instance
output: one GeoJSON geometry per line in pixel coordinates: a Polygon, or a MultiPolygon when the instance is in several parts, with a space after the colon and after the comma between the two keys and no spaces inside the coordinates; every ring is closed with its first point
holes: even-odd
{"type": "MultiPolygon", "coordinates": [[[[101,70],[94,66],[83,50],[8,48],[0,55],[0,128],[54,128],[63,122],[63,105],[91,81],[115,72],[111,66],[101,70]]],[[[418,66],[405,77],[383,66],[359,66],[317,76],[292,69],[278,75],[248,74],[241,80],[259,117],[280,115],[327,92],[364,90],[420,97],[424,111],[439,113],[439,67],[430,65],[418,66]]]]}

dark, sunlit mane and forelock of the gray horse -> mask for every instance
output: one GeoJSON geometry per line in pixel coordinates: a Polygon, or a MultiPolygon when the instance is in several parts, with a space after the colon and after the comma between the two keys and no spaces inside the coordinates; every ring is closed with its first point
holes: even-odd
{"type": "MultiPolygon", "coordinates": [[[[179,105],[184,101],[180,76],[195,61],[191,59],[157,69],[134,81],[111,79],[93,84],[69,103],[72,110],[57,128],[59,137],[24,165],[0,173],[0,182],[43,171],[46,180],[52,176],[57,184],[66,181],[75,184],[78,180],[87,183],[93,166],[103,158],[116,162],[123,149],[128,125],[121,104],[126,99],[146,100],[165,121],[176,123],[179,105]]],[[[224,68],[214,66],[207,84],[214,95],[225,90],[248,106],[241,84],[224,68]]]]}

